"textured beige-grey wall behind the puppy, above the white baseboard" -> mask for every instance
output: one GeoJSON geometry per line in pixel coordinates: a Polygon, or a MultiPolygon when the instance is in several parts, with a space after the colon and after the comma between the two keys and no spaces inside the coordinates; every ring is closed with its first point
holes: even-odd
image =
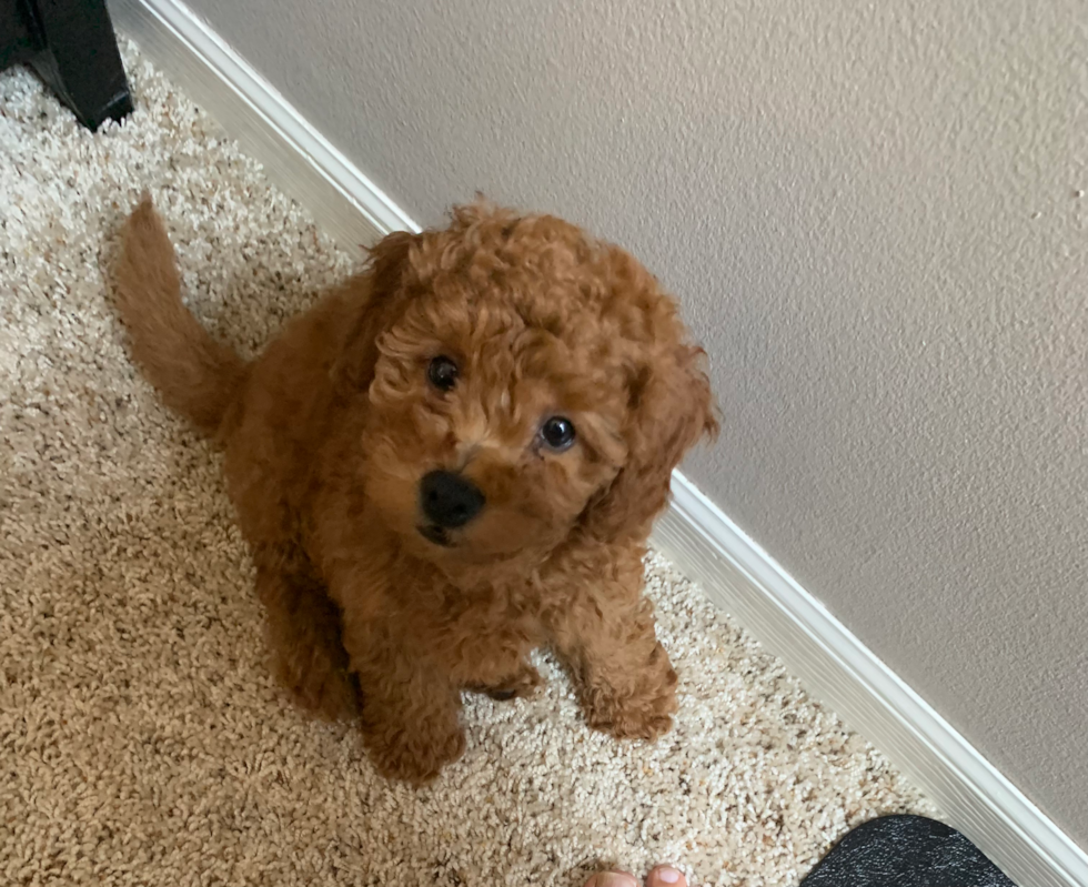
{"type": "Polygon", "coordinates": [[[1082,0],[190,2],[416,220],[658,272],[689,476],[1088,846],[1082,0]]]}

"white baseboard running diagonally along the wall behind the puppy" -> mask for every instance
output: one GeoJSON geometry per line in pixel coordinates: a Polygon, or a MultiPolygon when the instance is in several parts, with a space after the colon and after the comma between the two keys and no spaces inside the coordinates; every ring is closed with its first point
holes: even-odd
{"type": "MultiPolygon", "coordinates": [[[[346,249],[417,231],[177,0],[110,0],[118,29],[219,120],[346,249]]],[[[654,544],[880,748],[1020,887],[1088,887],[1088,854],[678,472],[654,544]]]]}

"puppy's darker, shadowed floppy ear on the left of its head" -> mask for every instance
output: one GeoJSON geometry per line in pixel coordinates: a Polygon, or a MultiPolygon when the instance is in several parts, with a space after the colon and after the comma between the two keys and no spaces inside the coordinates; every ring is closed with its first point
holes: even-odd
{"type": "Polygon", "coordinates": [[[349,284],[362,292],[333,369],[339,384],[365,391],[373,381],[377,336],[393,323],[407,299],[410,255],[419,240],[419,234],[407,231],[386,234],[370,249],[369,269],[349,284]]]}

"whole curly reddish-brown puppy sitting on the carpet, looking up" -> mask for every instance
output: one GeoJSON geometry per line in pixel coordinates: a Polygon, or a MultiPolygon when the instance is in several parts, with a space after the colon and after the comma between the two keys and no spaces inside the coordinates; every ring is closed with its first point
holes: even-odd
{"type": "Polygon", "coordinates": [[[250,363],[182,304],[148,198],[115,282],[137,362],[225,447],[278,676],[360,715],[383,774],[436,776],[464,749],[462,691],[532,693],[544,645],[590,726],[669,728],[642,558],[717,425],[702,351],[632,256],[472,204],[386,236],[250,363]]]}

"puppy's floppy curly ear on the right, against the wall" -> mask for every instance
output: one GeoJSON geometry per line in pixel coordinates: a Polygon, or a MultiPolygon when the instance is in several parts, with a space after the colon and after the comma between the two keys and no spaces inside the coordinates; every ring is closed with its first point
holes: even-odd
{"type": "Polygon", "coordinates": [[[635,372],[624,431],[627,458],[586,510],[590,534],[608,542],[645,538],[668,504],[673,468],[704,434],[717,434],[703,359],[702,349],[679,344],[666,354],[657,352],[635,372]]]}

